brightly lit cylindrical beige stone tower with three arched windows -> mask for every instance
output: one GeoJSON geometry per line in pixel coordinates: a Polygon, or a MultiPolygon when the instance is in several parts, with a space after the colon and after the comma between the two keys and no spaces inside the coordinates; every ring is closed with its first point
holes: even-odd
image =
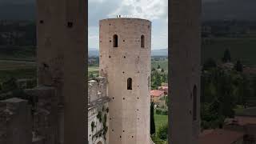
{"type": "Polygon", "coordinates": [[[150,143],[151,22],[109,18],[99,24],[100,76],[108,82],[109,143],[150,143]]]}

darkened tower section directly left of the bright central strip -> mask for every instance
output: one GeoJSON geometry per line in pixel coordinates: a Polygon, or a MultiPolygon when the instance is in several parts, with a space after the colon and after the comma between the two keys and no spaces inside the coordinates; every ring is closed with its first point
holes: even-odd
{"type": "Polygon", "coordinates": [[[38,0],[38,85],[56,88],[56,143],[86,142],[86,1],[38,0]],[[64,131],[64,132],[63,132],[64,131]]]}

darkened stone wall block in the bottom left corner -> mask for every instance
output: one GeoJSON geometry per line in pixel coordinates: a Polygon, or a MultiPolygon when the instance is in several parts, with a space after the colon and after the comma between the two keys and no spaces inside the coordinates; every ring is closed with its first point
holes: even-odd
{"type": "Polygon", "coordinates": [[[10,98],[0,101],[1,144],[30,144],[31,125],[30,106],[26,100],[10,98]]]}

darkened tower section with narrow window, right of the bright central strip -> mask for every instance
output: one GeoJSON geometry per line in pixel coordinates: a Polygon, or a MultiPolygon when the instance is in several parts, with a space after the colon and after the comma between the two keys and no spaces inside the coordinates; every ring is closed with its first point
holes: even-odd
{"type": "Polygon", "coordinates": [[[170,2],[170,142],[197,144],[200,132],[201,0],[170,2]]]}

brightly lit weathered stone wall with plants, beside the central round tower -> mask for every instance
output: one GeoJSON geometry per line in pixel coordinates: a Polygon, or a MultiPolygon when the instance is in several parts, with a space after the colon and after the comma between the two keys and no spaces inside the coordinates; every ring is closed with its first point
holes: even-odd
{"type": "Polygon", "coordinates": [[[109,107],[106,78],[98,77],[88,82],[88,143],[108,144],[109,107]]]}

